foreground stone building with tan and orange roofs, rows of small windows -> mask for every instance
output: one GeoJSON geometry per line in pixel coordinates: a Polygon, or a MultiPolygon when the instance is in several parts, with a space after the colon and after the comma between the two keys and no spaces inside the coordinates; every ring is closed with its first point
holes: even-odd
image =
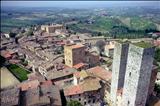
{"type": "Polygon", "coordinates": [[[87,71],[74,75],[74,85],[64,89],[67,101],[77,100],[83,106],[100,106],[104,91],[100,79],[87,71]]]}

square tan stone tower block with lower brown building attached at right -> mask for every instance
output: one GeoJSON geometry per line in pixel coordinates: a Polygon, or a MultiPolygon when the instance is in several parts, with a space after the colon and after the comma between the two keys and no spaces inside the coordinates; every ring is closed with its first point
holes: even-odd
{"type": "Polygon", "coordinates": [[[82,44],[72,44],[64,46],[65,64],[74,67],[79,63],[87,63],[92,67],[99,63],[99,56],[90,53],[82,44]]]}

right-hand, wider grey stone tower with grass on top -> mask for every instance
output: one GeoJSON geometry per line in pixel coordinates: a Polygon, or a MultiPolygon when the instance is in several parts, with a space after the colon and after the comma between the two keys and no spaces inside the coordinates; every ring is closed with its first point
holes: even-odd
{"type": "Polygon", "coordinates": [[[154,47],[149,43],[130,44],[122,106],[145,106],[150,86],[154,47]]]}

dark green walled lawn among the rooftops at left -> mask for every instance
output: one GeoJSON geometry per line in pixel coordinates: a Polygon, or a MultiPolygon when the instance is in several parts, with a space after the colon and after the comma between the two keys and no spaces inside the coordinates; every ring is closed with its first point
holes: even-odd
{"type": "Polygon", "coordinates": [[[28,72],[27,70],[19,67],[16,64],[10,64],[7,66],[7,68],[9,69],[9,71],[18,78],[19,81],[24,81],[27,80],[27,74],[29,74],[30,72],[28,72]]]}

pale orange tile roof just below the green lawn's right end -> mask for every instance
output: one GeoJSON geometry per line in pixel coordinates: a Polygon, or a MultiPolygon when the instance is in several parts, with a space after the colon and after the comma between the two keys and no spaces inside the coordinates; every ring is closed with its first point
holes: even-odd
{"type": "Polygon", "coordinates": [[[20,87],[22,91],[37,88],[38,86],[39,86],[38,80],[28,81],[28,82],[24,82],[18,85],[18,87],[20,87]]]}

